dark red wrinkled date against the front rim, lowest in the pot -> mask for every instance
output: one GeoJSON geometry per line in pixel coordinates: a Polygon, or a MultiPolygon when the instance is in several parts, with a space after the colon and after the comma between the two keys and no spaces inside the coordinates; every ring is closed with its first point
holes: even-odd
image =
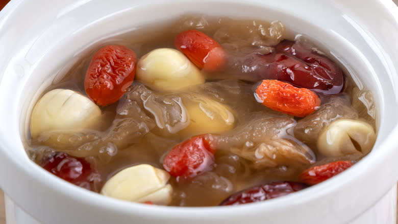
{"type": "Polygon", "coordinates": [[[307,187],[308,185],[295,182],[273,182],[234,193],[227,199],[223,200],[220,203],[220,206],[241,205],[268,200],[300,191],[307,187]]]}

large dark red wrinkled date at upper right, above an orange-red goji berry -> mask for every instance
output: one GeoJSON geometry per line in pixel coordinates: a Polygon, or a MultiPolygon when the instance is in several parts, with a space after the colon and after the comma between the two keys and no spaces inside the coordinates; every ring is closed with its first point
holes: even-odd
{"type": "Polygon", "coordinates": [[[251,80],[277,79],[322,94],[340,93],[344,76],[329,58],[313,52],[299,42],[281,41],[267,55],[255,54],[247,58],[254,77],[251,80]]]}

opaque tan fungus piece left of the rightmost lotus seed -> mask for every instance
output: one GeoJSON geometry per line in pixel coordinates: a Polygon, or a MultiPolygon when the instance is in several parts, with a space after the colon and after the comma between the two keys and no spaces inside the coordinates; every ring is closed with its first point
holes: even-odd
{"type": "Polygon", "coordinates": [[[315,162],[310,148],[289,139],[268,139],[254,147],[232,148],[231,152],[252,161],[255,168],[315,162]]]}

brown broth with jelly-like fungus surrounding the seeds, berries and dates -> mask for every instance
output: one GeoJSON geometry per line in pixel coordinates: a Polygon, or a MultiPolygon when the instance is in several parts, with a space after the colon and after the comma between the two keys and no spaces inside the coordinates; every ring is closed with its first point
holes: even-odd
{"type": "MultiPolygon", "coordinates": [[[[301,182],[300,174],[310,167],[340,160],[355,163],[368,153],[355,141],[357,151],[338,156],[326,155],[318,149],[321,132],[335,120],[364,121],[376,127],[371,92],[360,89],[343,68],[342,91],[316,93],[320,106],[308,116],[294,117],[258,102],[254,93],[261,79],[250,75],[256,68],[248,62],[248,55],[270,54],[284,39],[323,54],[309,37],[289,32],[279,21],[190,15],[161,26],[141,28],[103,44],[126,46],[136,53],[138,60],[154,49],[175,49],[176,36],[192,29],[207,34],[227,52],[223,70],[202,70],[205,83],[176,90],[159,91],[135,80],[116,103],[101,107],[95,128],[46,131],[28,138],[30,158],[42,164],[59,151],[84,158],[97,170],[90,176],[90,189],[100,192],[119,171],[139,164],[163,169],[164,158],[173,147],[193,136],[211,133],[217,145],[214,163],[191,178],[172,176],[169,205],[217,206],[235,192],[276,181],[301,182]],[[221,124],[203,128],[186,115],[186,111],[199,110],[214,122],[218,119],[231,124],[226,128],[219,128],[221,124]],[[278,150],[272,151],[275,148],[278,150]]],[[[60,82],[53,83],[45,92],[65,88],[86,95],[85,74],[99,47],[84,55],[85,59],[74,64],[60,82]]]]}

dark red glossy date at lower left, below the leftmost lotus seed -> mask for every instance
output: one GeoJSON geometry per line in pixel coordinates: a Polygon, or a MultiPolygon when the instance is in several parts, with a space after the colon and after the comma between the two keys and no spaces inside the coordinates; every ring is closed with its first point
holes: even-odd
{"type": "Polygon", "coordinates": [[[95,172],[84,159],[76,158],[65,152],[57,152],[41,163],[48,172],[74,185],[93,190],[95,172]]]}

